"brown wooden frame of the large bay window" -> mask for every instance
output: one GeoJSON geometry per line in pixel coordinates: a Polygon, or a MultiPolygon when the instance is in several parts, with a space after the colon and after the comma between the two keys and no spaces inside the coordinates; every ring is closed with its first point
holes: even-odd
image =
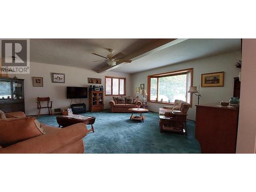
{"type": "MultiPolygon", "coordinates": [[[[148,75],[147,76],[147,95],[148,95],[147,102],[161,103],[161,104],[167,104],[167,105],[173,105],[174,104],[174,102],[166,102],[166,101],[160,102],[160,101],[150,100],[150,96],[151,96],[151,92],[150,92],[151,91],[151,78],[157,78],[157,95],[158,95],[158,92],[159,92],[159,87],[158,86],[159,86],[159,78],[160,77],[169,77],[169,76],[183,75],[183,74],[190,73],[190,85],[189,85],[189,87],[191,87],[191,86],[193,86],[193,72],[194,72],[194,68],[189,68],[189,69],[171,71],[171,72],[166,72],[166,73],[148,75]]],[[[189,103],[190,103],[190,107],[192,107],[193,95],[192,95],[192,93],[187,93],[187,94],[190,94],[189,103]]],[[[188,102],[188,101],[186,101],[186,102],[188,102]]]]}

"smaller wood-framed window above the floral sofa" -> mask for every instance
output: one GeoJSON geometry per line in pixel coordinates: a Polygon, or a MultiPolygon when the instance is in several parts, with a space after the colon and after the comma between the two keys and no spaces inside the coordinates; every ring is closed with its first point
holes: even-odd
{"type": "Polygon", "coordinates": [[[105,95],[125,95],[126,79],[122,77],[105,76],[105,95]]]}

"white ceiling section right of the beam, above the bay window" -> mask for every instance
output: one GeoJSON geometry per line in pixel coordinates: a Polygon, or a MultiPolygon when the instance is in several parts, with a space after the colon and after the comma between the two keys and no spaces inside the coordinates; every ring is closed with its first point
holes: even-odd
{"type": "Polygon", "coordinates": [[[241,39],[187,39],[174,46],[134,60],[127,65],[120,66],[113,71],[132,74],[240,49],[241,39]]]}

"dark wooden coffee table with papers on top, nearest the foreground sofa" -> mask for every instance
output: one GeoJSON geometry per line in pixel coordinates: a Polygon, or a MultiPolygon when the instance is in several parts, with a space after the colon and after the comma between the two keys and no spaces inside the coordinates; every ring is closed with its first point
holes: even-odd
{"type": "Polygon", "coordinates": [[[56,116],[56,120],[57,123],[59,124],[59,127],[66,127],[66,126],[70,126],[76,123],[83,123],[83,124],[90,124],[92,127],[90,130],[88,130],[89,132],[93,132],[94,133],[94,127],[93,127],[93,123],[95,122],[96,117],[92,117],[92,116],[86,116],[88,117],[87,119],[76,119],[73,117],[69,117],[69,116],[63,116],[63,115],[59,115],[56,116]]]}

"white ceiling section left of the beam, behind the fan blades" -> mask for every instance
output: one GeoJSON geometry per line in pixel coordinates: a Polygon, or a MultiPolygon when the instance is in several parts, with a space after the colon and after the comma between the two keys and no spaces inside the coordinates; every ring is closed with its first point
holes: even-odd
{"type": "Polygon", "coordinates": [[[155,39],[30,39],[30,61],[86,69],[100,69],[104,62],[92,62],[104,59],[93,55],[109,54],[108,49],[129,54],[155,39]]]}

